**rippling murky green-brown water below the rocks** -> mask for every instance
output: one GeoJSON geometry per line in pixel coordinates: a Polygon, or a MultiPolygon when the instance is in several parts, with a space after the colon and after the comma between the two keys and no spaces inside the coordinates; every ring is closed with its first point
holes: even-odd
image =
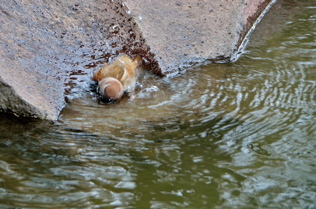
{"type": "Polygon", "coordinates": [[[237,62],[144,73],[135,96],[0,115],[0,208],[316,208],[314,0],[279,0],[237,62]]]}

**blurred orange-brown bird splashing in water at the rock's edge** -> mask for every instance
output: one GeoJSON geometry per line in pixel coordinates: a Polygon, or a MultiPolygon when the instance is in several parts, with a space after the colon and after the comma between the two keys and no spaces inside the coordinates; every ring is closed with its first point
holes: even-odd
{"type": "Polygon", "coordinates": [[[128,55],[118,57],[112,64],[100,68],[93,76],[99,82],[99,93],[107,101],[119,101],[124,93],[134,90],[140,60],[128,55]]]}

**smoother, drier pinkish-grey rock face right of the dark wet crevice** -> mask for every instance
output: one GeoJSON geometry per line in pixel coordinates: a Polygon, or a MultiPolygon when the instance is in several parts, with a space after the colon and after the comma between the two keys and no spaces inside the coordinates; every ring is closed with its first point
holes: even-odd
{"type": "Polygon", "coordinates": [[[270,0],[126,0],[163,72],[230,61],[270,0]]]}

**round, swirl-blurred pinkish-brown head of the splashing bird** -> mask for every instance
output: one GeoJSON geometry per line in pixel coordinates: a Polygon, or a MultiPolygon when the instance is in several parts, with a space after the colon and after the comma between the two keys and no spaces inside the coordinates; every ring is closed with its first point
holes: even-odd
{"type": "Polygon", "coordinates": [[[123,85],[115,78],[106,77],[99,83],[99,92],[103,99],[119,101],[123,96],[123,85]]]}

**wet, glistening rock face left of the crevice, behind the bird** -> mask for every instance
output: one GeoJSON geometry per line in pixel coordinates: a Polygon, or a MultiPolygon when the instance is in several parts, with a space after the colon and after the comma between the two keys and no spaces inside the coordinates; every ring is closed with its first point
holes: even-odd
{"type": "Polygon", "coordinates": [[[76,79],[71,75],[84,75],[126,49],[152,64],[118,1],[8,0],[0,8],[2,110],[56,120],[76,79]]]}

